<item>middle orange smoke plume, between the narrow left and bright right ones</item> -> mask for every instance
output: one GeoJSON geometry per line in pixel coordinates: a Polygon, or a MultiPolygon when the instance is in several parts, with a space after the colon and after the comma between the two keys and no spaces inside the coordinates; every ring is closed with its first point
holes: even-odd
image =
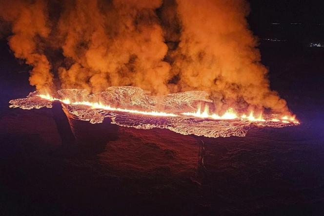
{"type": "Polygon", "coordinates": [[[170,65],[155,10],[161,0],[80,0],[59,21],[63,55],[73,65],[59,68],[62,87],[101,91],[108,86],[139,86],[168,93],[170,65]]]}

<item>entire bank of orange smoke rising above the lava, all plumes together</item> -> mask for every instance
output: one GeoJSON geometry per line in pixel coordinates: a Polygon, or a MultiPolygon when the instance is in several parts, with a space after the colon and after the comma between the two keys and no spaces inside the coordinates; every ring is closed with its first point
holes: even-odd
{"type": "MultiPolygon", "coordinates": [[[[37,89],[203,90],[215,107],[287,112],[269,88],[244,0],[0,0],[37,89]]],[[[2,25],[1,25],[2,26],[2,25]]]]}

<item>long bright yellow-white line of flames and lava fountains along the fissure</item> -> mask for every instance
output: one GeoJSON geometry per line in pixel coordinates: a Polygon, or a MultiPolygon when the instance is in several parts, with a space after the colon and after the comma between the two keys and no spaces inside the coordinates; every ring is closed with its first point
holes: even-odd
{"type": "MultiPolygon", "coordinates": [[[[101,102],[89,102],[89,101],[77,101],[77,102],[71,102],[70,99],[64,98],[54,98],[49,94],[39,94],[39,97],[42,99],[48,100],[48,101],[61,101],[63,104],[67,105],[84,105],[88,106],[93,109],[104,109],[104,110],[111,110],[111,111],[121,111],[121,112],[127,112],[132,114],[142,114],[142,115],[151,115],[151,116],[164,116],[164,117],[177,117],[178,114],[175,113],[167,113],[162,111],[141,111],[136,109],[124,109],[124,108],[114,108],[110,105],[104,105],[101,102]]],[[[226,112],[223,115],[218,115],[216,113],[210,113],[209,107],[204,106],[203,111],[201,105],[198,106],[196,112],[182,112],[180,115],[186,115],[186,116],[193,116],[196,118],[209,118],[209,119],[215,119],[215,120],[247,120],[250,122],[265,122],[265,121],[272,121],[272,122],[282,122],[282,123],[294,123],[294,124],[300,124],[299,121],[296,120],[296,116],[283,116],[281,117],[281,120],[278,118],[272,118],[269,120],[265,120],[263,118],[262,113],[259,114],[258,117],[255,117],[253,114],[253,111],[250,112],[250,114],[247,116],[246,114],[241,115],[239,117],[238,113],[233,108],[228,108],[226,112]]]]}

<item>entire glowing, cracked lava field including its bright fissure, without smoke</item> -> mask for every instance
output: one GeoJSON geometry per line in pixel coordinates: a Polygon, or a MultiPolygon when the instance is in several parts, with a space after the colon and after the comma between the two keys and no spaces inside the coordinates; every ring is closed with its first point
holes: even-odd
{"type": "Polygon", "coordinates": [[[61,89],[58,93],[62,99],[35,91],[27,98],[9,103],[11,108],[31,109],[51,108],[53,101],[60,101],[73,118],[93,124],[110,117],[112,124],[123,127],[165,128],[207,137],[244,136],[252,126],[281,128],[300,124],[294,116],[259,114],[256,117],[253,112],[239,114],[233,108],[221,115],[212,113],[207,105],[211,101],[201,91],[158,97],[150,96],[138,87],[121,86],[95,94],[78,89],[61,89]]]}

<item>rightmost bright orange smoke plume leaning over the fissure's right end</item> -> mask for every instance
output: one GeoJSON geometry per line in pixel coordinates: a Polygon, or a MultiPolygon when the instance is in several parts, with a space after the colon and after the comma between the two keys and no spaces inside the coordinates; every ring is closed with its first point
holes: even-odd
{"type": "Polygon", "coordinates": [[[269,88],[267,69],[245,19],[246,2],[177,2],[182,33],[173,67],[181,90],[207,91],[218,107],[235,103],[286,111],[286,102],[269,88]]]}

